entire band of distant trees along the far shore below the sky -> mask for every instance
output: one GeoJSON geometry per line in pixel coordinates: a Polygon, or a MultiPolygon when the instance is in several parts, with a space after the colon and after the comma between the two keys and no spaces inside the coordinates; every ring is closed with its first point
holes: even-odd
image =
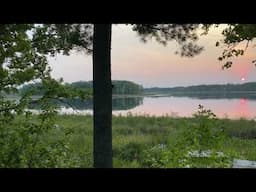
{"type": "MultiPolygon", "coordinates": [[[[141,95],[141,94],[172,94],[179,95],[202,95],[202,96],[223,96],[225,98],[241,97],[244,93],[246,95],[254,96],[256,98],[256,82],[248,82],[243,84],[213,84],[213,85],[194,85],[187,87],[171,87],[171,88],[143,88],[141,85],[131,81],[117,81],[113,80],[113,94],[114,95],[141,95]]],[[[73,83],[63,84],[65,87],[82,90],[85,92],[92,92],[92,81],[77,81],[73,83]]],[[[22,86],[19,89],[20,94],[24,94],[29,90],[34,91],[34,95],[43,95],[44,90],[42,84],[39,82],[30,83],[22,86]]]]}

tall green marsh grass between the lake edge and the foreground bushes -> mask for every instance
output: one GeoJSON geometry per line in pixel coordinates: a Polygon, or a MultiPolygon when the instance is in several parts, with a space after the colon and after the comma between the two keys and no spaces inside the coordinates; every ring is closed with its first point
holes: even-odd
{"type": "MultiPolygon", "coordinates": [[[[22,120],[22,117],[17,118],[16,125],[22,120]]],[[[233,154],[232,157],[234,158],[256,160],[255,121],[245,119],[221,119],[216,121],[226,131],[227,138],[224,140],[223,145],[214,150],[233,154]]],[[[186,167],[185,164],[182,166],[177,165],[177,150],[181,149],[178,146],[182,144],[184,130],[196,126],[197,123],[198,120],[195,117],[155,117],[149,115],[134,116],[131,114],[128,116],[113,116],[114,167],[186,167]],[[176,159],[175,154],[177,155],[176,159]],[[153,160],[151,159],[151,161],[150,158],[153,160]],[[173,161],[170,160],[171,158],[174,158],[173,161]]],[[[50,143],[63,137],[63,132],[69,133],[65,141],[69,148],[66,158],[70,161],[70,167],[92,167],[92,116],[58,115],[54,131],[45,136],[45,139],[50,143]]],[[[194,167],[220,166],[219,164],[214,165],[213,161],[209,165],[209,162],[203,158],[200,160],[193,159],[193,161],[194,167]]],[[[228,167],[224,164],[220,167],[222,166],[228,167]]]]}

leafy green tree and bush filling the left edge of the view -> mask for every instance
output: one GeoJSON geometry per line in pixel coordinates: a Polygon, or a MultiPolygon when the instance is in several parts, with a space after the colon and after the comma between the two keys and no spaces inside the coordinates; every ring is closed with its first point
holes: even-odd
{"type": "MultiPolygon", "coordinates": [[[[65,160],[67,134],[63,133],[65,136],[54,142],[46,140],[49,133],[56,131],[57,106],[51,99],[86,99],[89,94],[67,89],[61,80],[52,79],[46,55],[54,55],[61,50],[68,54],[80,41],[78,33],[88,34],[89,28],[80,30],[75,25],[0,25],[1,167],[68,166],[65,160]],[[23,92],[18,101],[8,99],[8,94],[18,93],[18,88],[24,83],[38,80],[42,82],[40,88],[44,95],[39,99],[41,113],[34,121],[26,110],[33,90],[23,92]],[[19,117],[25,119],[14,126],[19,117]]],[[[83,47],[89,46],[85,41],[82,41],[83,47]]]]}

